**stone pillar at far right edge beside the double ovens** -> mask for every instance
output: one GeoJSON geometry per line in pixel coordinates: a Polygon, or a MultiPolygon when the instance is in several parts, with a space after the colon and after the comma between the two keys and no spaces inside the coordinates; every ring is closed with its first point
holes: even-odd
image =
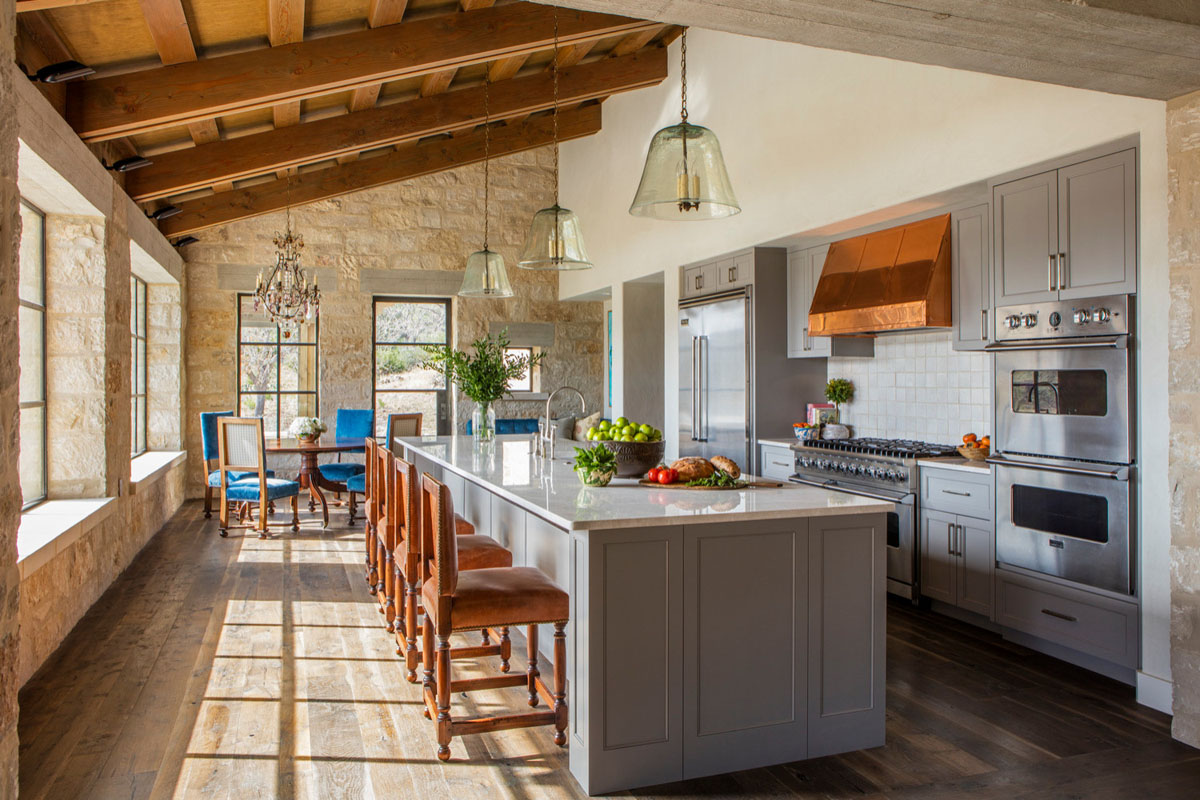
{"type": "Polygon", "coordinates": [[[1168,103],[1166,154],[1172,733],[1200,747],[1200,92],[1168,103]]]}

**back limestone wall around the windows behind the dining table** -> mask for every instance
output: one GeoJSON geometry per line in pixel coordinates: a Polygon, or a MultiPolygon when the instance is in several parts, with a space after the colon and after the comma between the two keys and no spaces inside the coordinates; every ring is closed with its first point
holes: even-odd
{"type": "MultiPolygon", "coordinates": [[[[504,255],[516,296],[509,300],[454,299],[454,338],[467,347],[493,321],[553,325],[541,383],[583,390],[589,408],[600,408],[602,311],[600,302],[559,302],[558,276],[516,269],[517,252],[533,213],[551,203],[551,152],[542,149],[492,163],[491,247],[504,255]]],[[[480,166],[420,178],[313,203],[293,211],[305,239],[306,269],[320,270],[320,415],[371,404],[371,291],[420,294],[413,284],[378,291],[380,271],[461,271],[482,245],[480,166]],[[370,272],[371,288],[362,287],[370,272]],[[326,282],[326,277],[329,281],[326,282]]],[[[233,408],[236,395],[236,293],[253,288],[260,265],[272,260],[271,237],[283,228],[282,213],[232,223],[199,234],[187,260],[187,415],[188,493],[203,492],[199,414],[233,408]]],[[[584,221],[586,225],[586,221],[584,221]]],[[[586,228],[584,228],[586,230],[586,228]]],[[[384,279],[384,283],[386,281],[384,279]]],[[[456,429],[470,404],[458,397],[456,429]]],[[[541,403],[505,401],[499,416],[535,416],[541,403]]],[[[574,405],[563,407],[570,411],[574,405]]]]}

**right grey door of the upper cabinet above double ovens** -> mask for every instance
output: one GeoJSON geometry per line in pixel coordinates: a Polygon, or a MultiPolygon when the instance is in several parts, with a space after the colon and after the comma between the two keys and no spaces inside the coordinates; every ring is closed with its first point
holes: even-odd
{"type": "Polygon", "coordinates": [[[1128,294],[1138,288],[1134,151],[1058,170],[1058,243],[1067,264],[1062,297],[1128,294]]]}

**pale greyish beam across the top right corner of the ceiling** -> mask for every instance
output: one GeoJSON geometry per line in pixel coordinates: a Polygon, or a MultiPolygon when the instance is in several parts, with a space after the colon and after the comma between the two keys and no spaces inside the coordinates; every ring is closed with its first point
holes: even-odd
{"type": "Polygon", "coordinates": [[[554,2],[1117,95],[1200,90],[1198,0],[554,2]]]}

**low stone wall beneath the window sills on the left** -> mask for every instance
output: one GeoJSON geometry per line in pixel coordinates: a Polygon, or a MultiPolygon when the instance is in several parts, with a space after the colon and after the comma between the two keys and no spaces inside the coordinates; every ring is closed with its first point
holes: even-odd
{"type": "MultiPolygon", "coordinates": [[[[128,422],[126,421],[126,426],[128,422]]],[[[118,500],[116,512],[20,582],[23,686],[184,503],[185,464],[118,500]]],[[[2,793],[0,793],[2,796],[2,793]]]]}

